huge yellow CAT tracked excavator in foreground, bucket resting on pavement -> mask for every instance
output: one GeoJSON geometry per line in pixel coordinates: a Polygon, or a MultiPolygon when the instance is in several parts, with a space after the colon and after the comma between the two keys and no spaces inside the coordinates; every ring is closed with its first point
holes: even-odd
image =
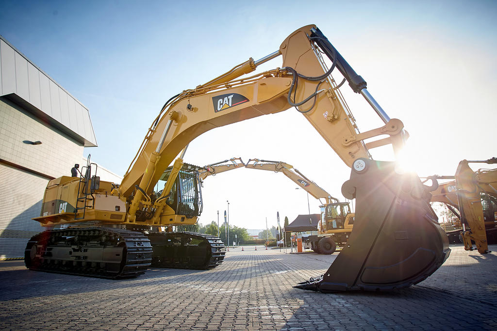
{"type": "Polygon", "coordinates": [[[370,153],[388,144],[399,151],[407,138],[404,125],[388,117],[365,80],[316,25],[294,31],[279,49],[257,61],[250,58],[171,97],[152,121],[120,184],[99,181],[89,162],[80,178],[50,181],[41,215],[35,218],[49,229],[28,242],[26,266],[122,278],[142,274],[150,265],[219,265],[225,254],[219,238],[170,232],[173,225],[195,224],[202,211],[200,167],[183,162],[188,143],[211,129],[293,107],[352,168],[342,194],[356,199],[347,247],[323,277],[298,287],[322,292],[389,290],[432,274],[450,249],[428,203],[429,192],[415,174],[398,173],[396,162],[373,160],[370,153]],[[247,75],[279,56],[280,67],[247,75]],[[338,84],[331,75],[335,68],[344,77],[338,84]],[[383,121],[381,127],[359,132],[340,94],[345,81],[371,105],[383,121]],[[154,194],[164,171],[169,173],[165,187],[154,194]],[[163,227],[169,231],[158,232],[163,227]]]}

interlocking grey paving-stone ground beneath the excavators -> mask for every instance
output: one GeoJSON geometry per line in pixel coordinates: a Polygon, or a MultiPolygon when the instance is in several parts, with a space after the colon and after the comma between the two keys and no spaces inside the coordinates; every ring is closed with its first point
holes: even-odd
{"type": "Polygon", "coordinates": [[[395,292],[292,288],[335,255],[230,249],[214,270],[149,269],[127,280],[0,262],[0,328],[10,330],[497,330],[497,245],[451,245],[432,276],[395,292]]]}

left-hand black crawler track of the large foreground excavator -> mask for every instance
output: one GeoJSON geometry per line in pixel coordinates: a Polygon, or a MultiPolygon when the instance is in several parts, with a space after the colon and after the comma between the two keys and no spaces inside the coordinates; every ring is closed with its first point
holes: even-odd
{"type": "Polygon", "coordinates": [[[114,228],[44,231],[24,252],[32,270],[112,279],[136,277],[151,261],[152,246],[143,233],[114,228]]]}

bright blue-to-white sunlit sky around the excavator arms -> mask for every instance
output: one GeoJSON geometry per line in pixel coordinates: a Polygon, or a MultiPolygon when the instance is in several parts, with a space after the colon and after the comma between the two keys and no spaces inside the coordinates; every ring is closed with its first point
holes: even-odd
{"type": "MultiPolygon", "coordinates": [[[[410,138],[406,164],[419,176],[453,175],[460,160],[497,156],[495,1],[0,1],[0,34],[89,109],[98,147],[84,156],[124,175],[172,95],[278,50],[316,24],[410,138]]],[[[281,66],[281,57],[257,71],[281,66]]],[[[383,125],[341,88],[361,132],[383,125]]],[[[389,148],[371,150],[393,160],[389,148]]],[[[231,157],[284,161],[343,199],[350,176],[295,109],[206,132],[184,161],[231,157]]],[[[472,165],[473,169],[492,168],[472,165]]],[[[62,175],[62,174],[61,174],[62,175]]],[[[320,202],[283,174],[237,169],[205,180],[203,224],[248,229],[319,212],[320,202]]]]}

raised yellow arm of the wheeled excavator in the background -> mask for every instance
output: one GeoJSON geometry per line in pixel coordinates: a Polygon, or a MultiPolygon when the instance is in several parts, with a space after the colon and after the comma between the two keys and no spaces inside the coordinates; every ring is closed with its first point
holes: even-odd
{"type": "Polygon", "coordinates": [[[320,188],[316,183],[304,176],[300,171],[295,169],[292,165],[281,162],[281,161],[267,161],[259,159],[249,159],[246,168],[249,169],[259,169],[274,172],[281,172],[286,177],[291,179],[295,184],[297,184],[302,189],[306,190],[315,199],[325,199],[326,204],[332,201],[338,202],[338,199],[331,197],[331,195],[324,189],[320,188]],[[250,163],[252,162],[252,163],[250,163]]]}

